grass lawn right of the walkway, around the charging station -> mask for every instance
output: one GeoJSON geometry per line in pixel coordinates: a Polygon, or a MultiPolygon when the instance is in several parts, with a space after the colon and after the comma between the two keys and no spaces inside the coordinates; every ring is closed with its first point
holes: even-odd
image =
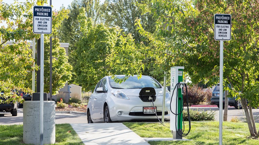
{"type": "MultiPolygon", "coordinates": [[[[140,137],[155,137],[155,138],[172,138],[170,132],[170,123],[165,123],[165,126],[159,123],[129,123],[124,122],[125,126],[130,128],[140,137]]],[[[259,124],[256,124],[259,127],[259,124]]],[[[185,133],[188,131],[188,124],[185,125],[185,133]]],[[[258,139],[249,137],[247,123],[223,122],[223,144],[249,144],[258,145],[258,139]]],[[[219,122],[191,122],[191,132],[184,137],[192,141],[150,141],[151,145],[167,145],[167,144],[218,144],[219,140],[219,122]]]]}

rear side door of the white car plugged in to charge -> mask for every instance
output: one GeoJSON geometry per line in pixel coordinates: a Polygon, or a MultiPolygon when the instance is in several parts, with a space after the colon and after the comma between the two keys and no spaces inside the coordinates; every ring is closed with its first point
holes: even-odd
{"type": "Polygon", "coordinates": [[[100,94],[99,94],[99,93],[96,93],[96,89],[97,89],[98,87],[100,87],[101,83],[102,83],[102,80],[97,83],[97,85],[96,85],[96,87],[95,87],[95,89],[94,89],[94,93],[93,93],[93,94],[91,95],[91,97],[89,98],[89,104],[91,104],[91,108],[89,107],[89,109],[90,109],[90,113],[91,113],[91,118],[92,118],[93,120],[98,120],[97,118],[98,118],[99,112],[98,112],[98,110],[96,110],[96,108],[98,107],[97,104],[96,104],[96,100],[97,100],[97,97],[98,97],[100,94]]]}

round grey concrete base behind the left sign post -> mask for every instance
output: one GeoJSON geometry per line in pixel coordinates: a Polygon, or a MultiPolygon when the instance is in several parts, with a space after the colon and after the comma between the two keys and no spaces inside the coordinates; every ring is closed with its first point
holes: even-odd
{"type": "MultiPolygon", "coordinates": [[[[40,101],[23,103],[23,142],[40,144],[40,101]]],[[[55,102],[43,103],[43,144],[55,143],[55,102]]]]}

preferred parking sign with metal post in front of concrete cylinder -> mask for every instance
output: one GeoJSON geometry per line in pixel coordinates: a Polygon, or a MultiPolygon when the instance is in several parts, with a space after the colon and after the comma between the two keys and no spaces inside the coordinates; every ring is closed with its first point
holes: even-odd
{"type": "MultiPolygon", "coordinates": [[[[41,34],[40,55],[40,144],[43,145],[44,34],[52,33],[52,7],[33,7],[33,33],[41,34]]],[[[37,80],[39,81],[39,80],[37,80]]]]}

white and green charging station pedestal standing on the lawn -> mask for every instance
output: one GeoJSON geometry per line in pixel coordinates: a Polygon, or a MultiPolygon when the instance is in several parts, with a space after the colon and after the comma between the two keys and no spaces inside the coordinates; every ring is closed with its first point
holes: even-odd
{"type": "MultiPolygon", "coordinates": [[[[174,66],[171,67],[171,90],[170,90],[170,96],[173,95],[172,97],[172,103],[171,103],[171,108],[172,111],[176,114],[180,113],[181,107],[183,104],[182,103],[182,90],[180,88],[176,88],[174,91],[174,88],[177,83],[180,83],[183,81],[183,69],[184,66],[174,66]],[[177,91],[178,90],[178,91],[177,91]],[[174,94],[173,94],[174,91],[174,94]],[[178,92],[178,100],[176,104],[176,93],[178,92]]],[[[171,101],[171,100],[170,100],[171,101]]],[[[173,133],[173,138],[174,139],[182,139],[182,113],[180,115],[175,115],[170,111],[170,130],[173,133]],[[177,123],[177,125],[176,125],[177,123]],[[180,134],[180,135],[179,135],[180,134]]]]}

